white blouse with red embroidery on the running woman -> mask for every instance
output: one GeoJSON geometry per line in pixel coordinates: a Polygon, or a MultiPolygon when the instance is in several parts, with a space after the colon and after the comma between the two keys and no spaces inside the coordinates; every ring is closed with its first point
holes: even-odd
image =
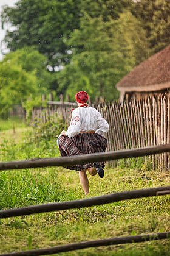
{"type": "Polygon", "coordinates": [[[108,130],[109,124],[98,110],[92,107],[78,107],[72,112],[72,119],[66,135],[74,137],[80,132],[95,131],[95,133],[104,136],[108,130]]]}

